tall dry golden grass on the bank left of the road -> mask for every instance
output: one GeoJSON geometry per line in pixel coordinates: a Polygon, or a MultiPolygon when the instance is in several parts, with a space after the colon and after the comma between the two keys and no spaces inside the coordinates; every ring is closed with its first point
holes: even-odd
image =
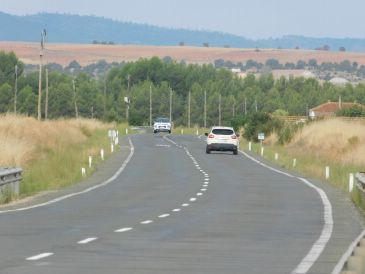
{"type": "Polygon", "coordinates": [[[108,125],[96,120],[39,122],[31,117],[0,116],[0,166],[27,167],[47,152],[84,142],[97,129],[108,125]]]}

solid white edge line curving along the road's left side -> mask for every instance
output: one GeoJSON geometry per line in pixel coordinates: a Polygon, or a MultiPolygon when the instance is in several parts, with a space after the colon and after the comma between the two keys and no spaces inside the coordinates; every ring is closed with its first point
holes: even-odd
{"type": "Polygon", "coordinates": [[[65,195],[65,196],[61,196],[61,197],[58,197],[56,199],[50,200],[50,201],[45,202],[45,203],[37,204],[37,205],[32,205],[32,206],[22,207],[22,208],[16,208],[16,209],[3,210],[3,211],[0,211],[0,214],[1,213],[8,213],[8,212],[16,212],[16,211],[25,211],[25,210],[29,210],[29,209],[33,209],[33,208],[38,208],[38,207],[43,207],[43,206],[51,205],[51,204],[54,204],[54,203],[57,203],[57,202],[66,200],[68,198],[74,197],[74,196],[78,196],[78,195],[82,195],[82,194],[88,193],[88,192],[90,192],[92,190],[95,190],[97,188],[100,188],[100,187],[103,187],[103,186],[106,186],[106,185],[110,184],[116,178],[118,178],[118,176],[123,172],[123,170],[125,169],[125,167],[127,166],[127,164],[129,163],[129,161],[131,160],[131,158],[132,158],[132,156],[134,154],[134,146],[133,146],[133,143],[132,143],[132,141],[131,141],[131,139],[129,137],[128,137],[128,141],[129,141],[130,148],[131,148],[131,151],[129,152],[128,158],[125,159],[125,161],[123,162],[122,166],[108,180],[106,180],[106,181],[104,181],[104,182],[102,182],[102,183],[100,183],[98,185],[89,187],[89,188],[87,188],[87,189],[85,189],[83,191],[80,191],[80,192],[75,192],[75,193],[71,193],[71,194],[68,194],[68,195],[65,195]]]}

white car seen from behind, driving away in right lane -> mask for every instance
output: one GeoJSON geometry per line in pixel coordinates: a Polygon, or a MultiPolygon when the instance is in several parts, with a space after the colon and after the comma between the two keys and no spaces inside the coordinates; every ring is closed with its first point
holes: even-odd
{"type": "Polygon", "coordinates": [[[232,127],[212,127],[207,136],[206,153],[211,151],[232,151],[238,154],[239,140],[232,127]]]}

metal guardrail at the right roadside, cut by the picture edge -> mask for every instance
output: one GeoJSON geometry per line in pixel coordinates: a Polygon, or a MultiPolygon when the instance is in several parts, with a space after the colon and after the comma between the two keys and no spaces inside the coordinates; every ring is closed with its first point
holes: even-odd
{"type": "MultiPolygon", "coordinates": [[[[356,187],[360,190],[360,202],[365,204],[365,172],[356,173],[356,187]]],[[[364,274],[365,273],[365,230],[352,243],[333,273],[364,274]],[[341,269],[340,269],[341,268],[341,269]]]]}

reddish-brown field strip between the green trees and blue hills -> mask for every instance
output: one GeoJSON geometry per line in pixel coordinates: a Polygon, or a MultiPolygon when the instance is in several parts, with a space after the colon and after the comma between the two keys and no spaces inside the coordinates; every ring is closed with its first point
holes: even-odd
{"type": "MultiPolygon", "coordinates": [[[[0,42],[0,51],[15,54],[26,64],[38,64],[39,44],[20,42],[0,42]]],[[[216,59],[245,62],[249,59],[265,63],[270,58],[279,60],[280,63],[296,63],[298,60],[308,61],[316,59],[317,62],[335,62],[343,60],[357,62],[365,65],[365,53],[354,52],[327,52],[315,50],[294,49],[255,49],[238,48],[204,48],[190,46],[137,46],[137,45],[91,45],[91,44],[51,44],[46,45],[45,61],[58,63],[63,66],[76,60],[82,66],[95,63],[99,60],[107,62],[135,61],[140,58],[157,56],[163,58],[170,56],[174,60],[184,60],[187,63],[212,63],[216,59]]]]}

